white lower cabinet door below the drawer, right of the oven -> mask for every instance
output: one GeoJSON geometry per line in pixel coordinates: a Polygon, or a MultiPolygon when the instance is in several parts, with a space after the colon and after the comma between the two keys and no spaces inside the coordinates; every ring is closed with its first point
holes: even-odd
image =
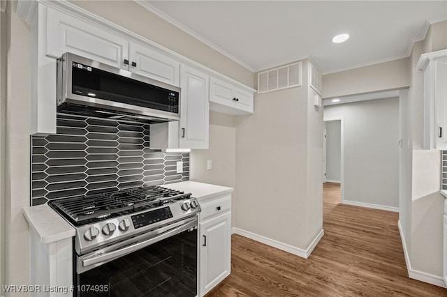
{"type": "Polygon", "coordinates": [[[231,269],[231,213],[200,223],[199,296],[204,296],[231,269]]]}

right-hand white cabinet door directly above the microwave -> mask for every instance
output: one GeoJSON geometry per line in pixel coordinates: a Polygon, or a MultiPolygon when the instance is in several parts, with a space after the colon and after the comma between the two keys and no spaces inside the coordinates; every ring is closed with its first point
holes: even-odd
{"type": "Polygon", "coordinates": [[[134,43],[130,44],[129,55],[133,73],[179,86],[179,61],[134,43]]]}

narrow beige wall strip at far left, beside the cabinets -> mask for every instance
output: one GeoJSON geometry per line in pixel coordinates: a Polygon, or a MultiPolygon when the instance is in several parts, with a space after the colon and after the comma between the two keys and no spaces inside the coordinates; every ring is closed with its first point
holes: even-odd
{"type": "Polygon", "coordinates": [[[29,28],[17,2],[6,10],[7,90],[5,133],[5,282],[29,284],[29,230],[22,207],[29,206],[29,28]]]}

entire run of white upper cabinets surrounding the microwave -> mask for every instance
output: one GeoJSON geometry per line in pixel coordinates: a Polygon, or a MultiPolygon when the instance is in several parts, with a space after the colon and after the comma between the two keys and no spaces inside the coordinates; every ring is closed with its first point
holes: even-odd
{"type": "Polygon", "coordinates": [[[30,6],[33,13],[27,19],[31,27],[31,134],[56,132],[56,59],[66,52],[181,86],[181,121],[157,126],[163,139],[160,142],[163,145],[157,144],[159,148],[208,148],[209,75],[219,77],[212,84],[212,110],[233,115],[253,113],[255,90],[116,24],[80,11],[70,2],[33,3],[38,9],[30,6]]]}

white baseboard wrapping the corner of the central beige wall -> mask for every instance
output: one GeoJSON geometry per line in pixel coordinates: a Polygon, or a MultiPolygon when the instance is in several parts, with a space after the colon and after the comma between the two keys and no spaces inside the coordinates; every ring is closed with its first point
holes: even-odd
{"type": "Polygon", "coordinates": [[[240,228],[233,228],[232,230],[233,234],[237,234],[240,236],[244,236],[250,239],[253,239],[254,241],[258,241],[260,243],[264,243],[266,245],[270,245],[273,248],[277,248],[279,250],[284,250],[285,252],[290,252],[291,254],[295,254],[299,257],[307,259],[318,242],[323,238],[324,231],[321,229],[321,231],[318,233],[318,235],[314,238],[312,243],[309,245],[309,247],[306,250],[302,250],[300,248],[296,248],[293,245],[288,245],[287,243],[282,243],[281,241],[276,241],[272,238],[268,238],[250,231],[246,231],[240,228]]]}

